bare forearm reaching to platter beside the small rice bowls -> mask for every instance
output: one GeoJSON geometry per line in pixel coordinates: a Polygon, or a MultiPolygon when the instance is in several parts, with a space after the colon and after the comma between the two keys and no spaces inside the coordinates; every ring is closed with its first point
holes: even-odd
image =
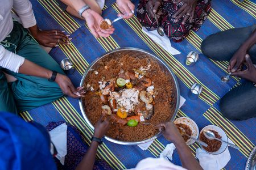
{"type": "Polygon", "coordinates": [[[195,170],[199,170],[202,169],[200,164],[197,162],[197,160],[195,159],[195,157],[192,155],[191,150],[189,149],[189,147],[186,145],[186,143],[184,142],[184,140],[177,140],[176,142],[174,142],[174,145],[177,149],[177,152],[179,154],[182,166],[184,168],[187,169],[195,169],[195,170]]]}

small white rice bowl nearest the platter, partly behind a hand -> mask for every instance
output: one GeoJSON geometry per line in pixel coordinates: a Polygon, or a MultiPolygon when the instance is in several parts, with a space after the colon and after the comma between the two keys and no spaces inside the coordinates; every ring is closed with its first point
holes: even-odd
{"type": "MultiPolygon", "coordinates": [[[[199,129],[198,126],[196,125],[196,122],[193,121],[191,118],[188,117],[180,117],[177,118],[174,121],[174,124],[177,126],[177,128],[183,128],[186,132],[187,135],[198,138],[199,136],[199,129]]],[[[192,145],[195,141],[193,139],[190,139],[187,136],[183,136],[184,141],[186,142],[187,145],[192,145]]]]}

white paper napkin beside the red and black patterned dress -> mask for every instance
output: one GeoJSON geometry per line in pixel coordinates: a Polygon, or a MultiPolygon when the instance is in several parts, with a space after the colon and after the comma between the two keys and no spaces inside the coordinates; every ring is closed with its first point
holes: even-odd
{"type": "Polygon", "coordinates": [[[158,34],[158,31],[147,31],[146,28],[142,27],[142,31],[146,33],[153,41],[162,46],[163,49],[167,50],[172,55],[180,54],[178,50],[172,47],[170,39],[164,35],[163,37],[158,34]]]}

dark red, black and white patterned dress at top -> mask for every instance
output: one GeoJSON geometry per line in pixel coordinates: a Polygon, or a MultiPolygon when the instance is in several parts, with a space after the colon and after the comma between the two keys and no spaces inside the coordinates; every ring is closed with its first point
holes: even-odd
{"type": "MultiPolygon", "coordinates": [[[[157,23],[154,18],[151,18],[147,14],[146,4],[148,0],[140,0],[137,8],[137,18],[141,22],[143,27],[146,27],[148,30],[154,30],[157,28],[157,23]]],[[[188,35],[189,31],[197,31],[201,25],[204,23],[204,20],[207,19],[210,10],[210,0],[197,0],[197,5],[195,9],[195,16],[192,20],[192,23],[189,22],[189,19],[185,24],[181,24],[183,18],[179,19],[175,23],[175,18],[173,17],[175,12],[183,6],[183,2],[178,4],[173,3],[174,0],[163,0],[162,5],[160,5],[159,10],[162,11],[163,15],[160,15],[158,18],[159,25],[164,29],[164,33],[175,42],[181,42],[185,36],[188,35]]]]}

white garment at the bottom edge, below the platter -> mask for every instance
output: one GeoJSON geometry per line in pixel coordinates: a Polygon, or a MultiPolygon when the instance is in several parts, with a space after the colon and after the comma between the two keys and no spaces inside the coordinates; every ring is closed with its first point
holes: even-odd
{"type": "Polygon", "coordinates": [[[141,160],[137,166],[130,170],[185,170],[163,158],[146,158],[141,160]]]}

